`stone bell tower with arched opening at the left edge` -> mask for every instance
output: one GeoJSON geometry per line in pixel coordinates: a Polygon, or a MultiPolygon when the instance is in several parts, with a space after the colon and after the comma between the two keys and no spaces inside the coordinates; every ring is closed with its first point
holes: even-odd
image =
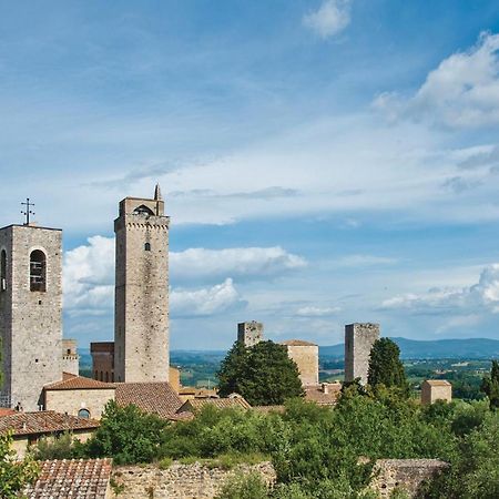
{"type": "Polygon", "coordinates": [[[0,228],[0,404],[38,410],[43,385],[62,376],[62,232],[0,228]]]}

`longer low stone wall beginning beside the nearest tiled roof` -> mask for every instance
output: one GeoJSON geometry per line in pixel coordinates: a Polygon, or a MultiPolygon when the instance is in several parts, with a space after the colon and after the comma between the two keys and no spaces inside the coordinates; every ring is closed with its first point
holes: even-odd
{"type": "Polygon", "coordinates": [[[271,462],[241,465],[228,471],[220,468],[210,469],[195,462],[173,464],[164,470],[153,465],[121,466],[113,469],[112,480],[115,485],[124,487],[118,496],[119,499],[211,499],[236,472],[257,472],[267,483],[273,483],[276,479],[271,462]]]}

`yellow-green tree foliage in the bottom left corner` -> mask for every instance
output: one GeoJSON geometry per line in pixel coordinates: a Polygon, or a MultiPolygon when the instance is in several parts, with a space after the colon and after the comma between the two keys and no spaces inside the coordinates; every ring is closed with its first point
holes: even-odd
{"type": "Polygon", "coordinates": [[[19,492],[32,483],[40,472],[31,457],[19,461],[11,446],[12,436],[0,435],[0,497],[3,499],[18,498],[19,492]]]}

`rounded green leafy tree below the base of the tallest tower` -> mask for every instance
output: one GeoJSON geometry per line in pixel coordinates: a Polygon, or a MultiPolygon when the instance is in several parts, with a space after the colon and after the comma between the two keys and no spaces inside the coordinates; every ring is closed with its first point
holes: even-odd
{"type": "Polygon", "coordinates": [[[169,421],[145,414],[136,406],[105,406],[101,426],[88,440],[89,457],[112,457],[116,464],[151,462],[165,440],[169,421]]]}

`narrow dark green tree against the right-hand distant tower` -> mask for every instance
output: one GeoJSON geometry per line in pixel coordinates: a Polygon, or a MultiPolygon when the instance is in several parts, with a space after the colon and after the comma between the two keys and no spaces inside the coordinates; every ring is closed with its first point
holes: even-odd
{"type": "Polygon", "coordinates": [[[399,356],[400,349],[391,339],[380,338],[374,343],[368,370],[368,384],[373,388],[385,385],[387,388],[399,388],[403,394],[408,395],[409,385],[399,356]]]}

